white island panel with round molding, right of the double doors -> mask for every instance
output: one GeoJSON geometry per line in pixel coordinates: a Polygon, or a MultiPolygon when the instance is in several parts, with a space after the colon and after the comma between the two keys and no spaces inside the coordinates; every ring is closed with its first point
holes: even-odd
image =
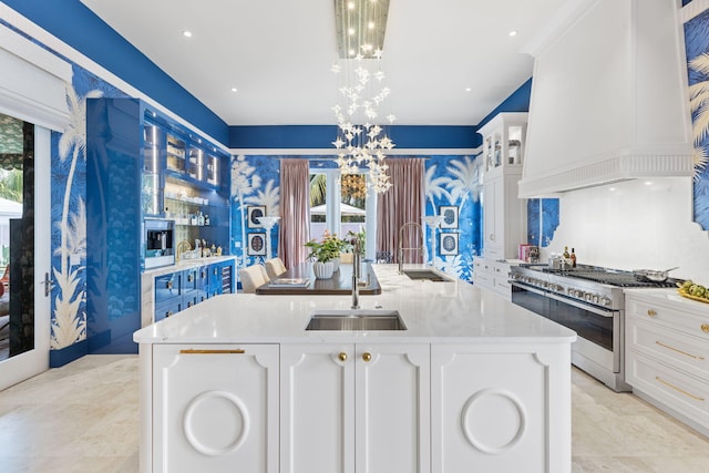
{"type": "Polygon", "coordinates": [[[431,405],[436,473],[571,471],[568,346],[434,345],[431,405]]]}

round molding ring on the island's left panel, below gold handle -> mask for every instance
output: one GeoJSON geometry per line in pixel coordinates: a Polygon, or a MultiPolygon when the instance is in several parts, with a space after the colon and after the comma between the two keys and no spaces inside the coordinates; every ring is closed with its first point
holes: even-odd
{"type": "MultiPolygon", "coordinates": [[[[228,417],[228,413],[224,410],[219,411],[220,417],[228,422],[233,419],[233,417],[228,417]]],[[[222,456],[229,454],[242,446],[244,441],[248,438],[249,431],[249,417],[248,410],[244,402],[237,398],[235,394],[226,391],[207,391],[194,398],[187,404],[187,409],[185,410],[185,417],[183,421],[183,430],[185,432],[185,436],[187,438],[187,442],[195,449],[197,452],[207,455],[207,456],[222,456]],[[214,403],[212,401],[217,401],[214,403]],[[218,405],[220,401],[227,401],[234,408],[235,411],[232,411],[233,414],[238,414],[240,417],[239,420],[234,422],[235,425],[242,424],[240,432],[235,432],[234,440],[228,443],[226,446],[213,446],[208,445],[207,439],[201,439],[201,435],[195,430],[195,421],[198,419],[201,414],[201,410],[210,409],[215,405],[218,405]]]]}

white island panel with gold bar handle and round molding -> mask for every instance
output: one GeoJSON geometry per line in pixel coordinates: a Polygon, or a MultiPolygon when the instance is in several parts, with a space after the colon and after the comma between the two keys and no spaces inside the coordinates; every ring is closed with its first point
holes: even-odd
{"type": "Polygon", "coordinates": [[[153,471],[278,472],[278,346],[153,346],[153,471]]]}

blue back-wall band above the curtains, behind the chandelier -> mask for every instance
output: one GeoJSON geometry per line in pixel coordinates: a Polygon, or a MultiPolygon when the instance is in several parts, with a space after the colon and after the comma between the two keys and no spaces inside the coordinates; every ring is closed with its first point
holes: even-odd
{"type": "MultiPolygon", "coordinates": [[[[527,99],[528,103],[528,99],[527,99]]],[[[474,148],[482,144],[475,126],[388,126],[397,148],[474,148]]],[[[335,148],[337,125],[230,126],[229,147],[244,150],[335,148]]]]}

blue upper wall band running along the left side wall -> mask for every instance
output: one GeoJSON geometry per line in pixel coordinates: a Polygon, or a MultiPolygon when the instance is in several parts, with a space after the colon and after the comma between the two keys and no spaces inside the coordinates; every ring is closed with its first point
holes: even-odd
{"type": "Polygon", "coordinates": [[[227,124],[79,0],[3,0],[89,59],[226,145],[227,124]]]}

